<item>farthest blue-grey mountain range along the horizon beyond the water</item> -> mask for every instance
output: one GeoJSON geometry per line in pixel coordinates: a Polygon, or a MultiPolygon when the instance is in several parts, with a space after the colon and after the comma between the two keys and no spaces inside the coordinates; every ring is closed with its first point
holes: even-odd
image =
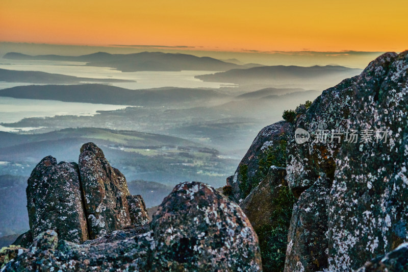
{"type": "Polygon", "coordinates": [[[188,54],[142,52],[135,54],[109,54],[98,52],[83,56],[39,55],[7,53],[3,58],[15,60],[52,60],[86,62],[89,66],[113,67],[122,72],[135,71],[226,71],[230,69],[262,66],[260,64],[239,65],[210,57],[196,57],[188,54]]]}

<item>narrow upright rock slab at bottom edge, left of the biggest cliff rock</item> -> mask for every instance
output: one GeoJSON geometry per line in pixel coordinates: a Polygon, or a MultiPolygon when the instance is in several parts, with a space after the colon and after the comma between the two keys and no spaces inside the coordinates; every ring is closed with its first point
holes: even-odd
{"type": "Polygon", "coordinates": [[[318,178],[295,203],[288,234],[285,272],[327,268],[330,183],[326,176],[318,178]]]}

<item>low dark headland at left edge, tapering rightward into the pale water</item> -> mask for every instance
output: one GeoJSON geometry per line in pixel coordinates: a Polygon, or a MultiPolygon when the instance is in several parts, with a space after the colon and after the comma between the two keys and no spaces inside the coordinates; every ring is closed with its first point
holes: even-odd
{"type": "Polygon", "coordinates": [[[60,75],[58,73],[47,73],[39,71],[17,71],[7,69],[0,69],[0,81],[41,83],[41,84],[50,83],[69,84],[81,82],[135,82],[132,80],[79,78],[60,75]]]}

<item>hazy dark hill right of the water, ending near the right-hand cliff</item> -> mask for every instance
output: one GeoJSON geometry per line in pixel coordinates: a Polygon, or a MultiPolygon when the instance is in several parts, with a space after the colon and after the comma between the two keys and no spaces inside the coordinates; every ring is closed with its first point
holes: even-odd
{"type": "Polygon", "coordinates": [[[283,86],[318,89],[333,86],[345,78],[359,75],[361,69],[343,66],[262,66],[249,69],[232,69],[211,75],[196,76],[197,79],[209,82],[228,82],[240,85],[269,84],[283,86]]]}

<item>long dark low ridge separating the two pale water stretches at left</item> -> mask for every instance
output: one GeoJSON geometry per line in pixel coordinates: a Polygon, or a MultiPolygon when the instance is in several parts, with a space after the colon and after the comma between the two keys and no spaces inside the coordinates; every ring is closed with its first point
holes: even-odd
{"type": "Polygon", "coordinates": [[[0,96],[134,106],[181,104],[225,97],[210,89],[130,90],[103,84],[17,86],[0,90],[0,96]]]}

